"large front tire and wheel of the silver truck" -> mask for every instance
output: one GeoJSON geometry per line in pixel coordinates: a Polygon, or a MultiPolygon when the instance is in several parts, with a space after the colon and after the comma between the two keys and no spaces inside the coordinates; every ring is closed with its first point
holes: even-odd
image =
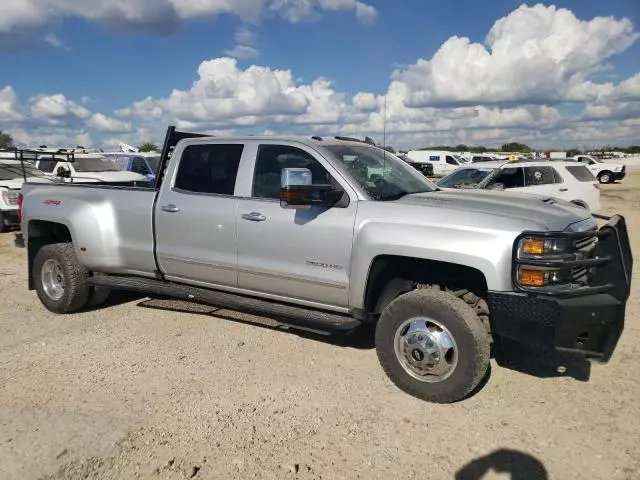
{"type": "Polygon", "coordinates": [[[490,338],[476,312],[453,293],[418,289],[382,312],[378,359],[404,392],[434,403],[467,397],[489,368],[490,338]]]}

